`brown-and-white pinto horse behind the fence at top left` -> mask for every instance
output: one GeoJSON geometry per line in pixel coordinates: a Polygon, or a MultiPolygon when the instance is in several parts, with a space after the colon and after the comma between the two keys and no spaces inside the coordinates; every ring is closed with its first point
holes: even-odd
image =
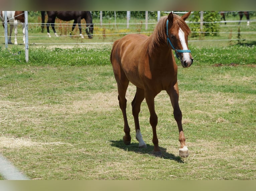
{"type": "MultiPolygon", "coordinates": [[[[4,11],[0,12],[0,18],[4,27],[4,11]]],[[[18,22],[22,23],[23,28],[23,43],[25,44],[25,16],[24,11],[7,11],[7,22],[10,24],[10,31],[8,31],[8,44],[12,44],[11,42],[11,36],[12,36],[12,30],[14,27],[14,44],[17,45],[17,34],[18,34],[18,22]]]]}

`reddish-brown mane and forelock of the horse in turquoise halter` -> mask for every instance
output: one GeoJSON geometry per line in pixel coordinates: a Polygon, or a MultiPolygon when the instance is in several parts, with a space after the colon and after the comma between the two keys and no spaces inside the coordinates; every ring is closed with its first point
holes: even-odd
{"type": "MultiPolygon", "coordinates": [[[[149,55],[151,56],[158,46],[160,46],[162,43],[167,43],[167,38],[166,38],[166,20],[167,16],[162,17],[153,32],[153,34],[149,37],[151,42],[149,44],[148,50],[149,50],[149,55]]],[[[173,26],[178,26],[179,28],[184,31],[185,34],[189,34],[191,31],[185,21],[179,17],[176,14],[173,14],[173,26]]]]}

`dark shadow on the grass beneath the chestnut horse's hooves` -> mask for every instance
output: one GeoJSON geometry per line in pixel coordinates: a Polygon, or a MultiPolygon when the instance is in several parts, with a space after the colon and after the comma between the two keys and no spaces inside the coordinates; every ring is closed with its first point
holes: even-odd
{"type": "MultiPolygon", "coordinates": [[[[155,157],[158,157],[156,155],[154,155],[153,150],[154,150],[154,146],[147,144],[147,148],[139,148],[139,144],[138,143],[132,143],[129,145],[124,144],[123,140],[110,140],[111,146],[123,149],[125,151],[132,151],[132,152],[136,152],[139,154],[149,154],[155,157]]],[[[168,153],[166,152],[166,148],[160,147],[160,150],[162,152],[162,156],[161,158],[164,159],[170,159],[170,160],[175,160],[179,163],[184,163],[184,161],[182,160],[181,157],[179,156],[175,156],[174,154],[168,153]]]]}

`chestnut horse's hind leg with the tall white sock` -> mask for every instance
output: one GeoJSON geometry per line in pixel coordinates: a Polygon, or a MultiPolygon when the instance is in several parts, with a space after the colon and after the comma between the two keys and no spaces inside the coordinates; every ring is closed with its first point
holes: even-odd
{"type": "Polygon", "coordinates": [[[144,100],[144,98],[145,98],[144,90],[137,87],[136,94],[132,101],[132,115],[135,123],[136,139],[139,141],[139,148],[147,147],[146,143],[142,139],[142,135],[140,132],[140,124],[139,124],[140,105],[141,105],[141,102],[144,100]]]}

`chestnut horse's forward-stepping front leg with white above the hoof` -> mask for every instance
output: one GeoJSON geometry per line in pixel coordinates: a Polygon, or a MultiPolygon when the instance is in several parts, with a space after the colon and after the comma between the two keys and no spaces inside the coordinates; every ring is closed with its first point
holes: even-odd
{"type": "Polygon", "coordinates": [[[176,83],[173,87],[170,88],[170,90],[167,91],[168,95],[171,99],[171,104],[173,107],[173,115],[174,119],[177,122],[178,129],[179,129],[179,142],[180,142],[180,148],[179,148],[179,156],[181,157],[187,157],[188,156],[188,149],[185,144],[185,136],[183,133],[182,128],[182,113],[179,108],[179,90],[178,90],[178,84],[176,83]]]}

